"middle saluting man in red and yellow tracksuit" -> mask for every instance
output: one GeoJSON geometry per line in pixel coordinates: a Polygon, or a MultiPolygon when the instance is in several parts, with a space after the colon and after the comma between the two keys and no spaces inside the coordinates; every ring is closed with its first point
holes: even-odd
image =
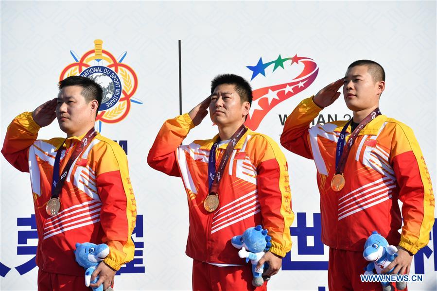
{"type": "MultiPolygon", "coordinates": [[[[287,162],[270,137],[247,130],[238,141],[235,138],[239,130],[244,132],[252,101],[247,81],[236,75],[218,76],[212,81],[211,94],[188,114],[165,121],[147,162],[158,171],[181,177],[184,183],[190,210],[186,254],[193,258],[193,290],[254,290],[251,267],[230,240],[261,224],[268,229],[272,246],[259,266],[269,264],[265,275],[278,272],[291,248],[294,218],[287,162]],[[218,135],[181,145],[206,117],[208,107],[218,135]],[[233,147],[229,154],[228,146],[233,147]],[[221,173],[223,156],[229,158],[221,173]],[[217,174],[212,173],[215,169],[217,174]],[[217,195],[210,191],[210,176],[212,180],[221,177],[217,195]],[[209,204],[211,198],[217,204],[209,204]]],[[[265,289],[265,282],[257,288],[265,289]]]]}

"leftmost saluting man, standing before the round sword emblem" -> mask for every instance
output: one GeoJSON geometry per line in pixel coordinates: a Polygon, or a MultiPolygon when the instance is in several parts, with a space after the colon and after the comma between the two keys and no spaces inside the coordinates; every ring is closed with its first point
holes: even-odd
{"type": "Polygon", "coordinates": [[[30,173],[41,291],[90,290],[84,268],[75,261],[76,242],[109,246],[91,287],[109,288],[117,270],[134,257],[137,211],[126,154],[94,130],[102,95],[93,80],[68,77],[59,82],[57,98],[18,115],[6,133],[1,153],[30,173]],[[37,140],[38,130],[56,118],[67,137],[37,140]]]}

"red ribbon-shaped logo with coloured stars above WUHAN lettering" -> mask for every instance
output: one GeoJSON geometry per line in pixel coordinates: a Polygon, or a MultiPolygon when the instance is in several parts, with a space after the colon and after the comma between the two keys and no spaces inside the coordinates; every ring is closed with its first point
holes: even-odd
{"type": "MultiPolygon", "coordinates": [[[[281,70],[287,70],[291,66],[299,66],[299,68],[301,68],[297,76],[290,75],[287,76],[287,81],[285,82],[279,84],[278,82],[274,82],[275,84],[253,90],[252,105],[250,106],[249,116],[245,122],[245,125],[251,130],[258,128],[262,119],[273,107],[308,88],[314,82],[318,68],[313,59],[297,56],[297,54],[294,57],[284,58],[279,55],[276,60],[269,62],[263,62],[262,57],[260,57],[255,66],[246,66],[246,68],[252,72],[251,82],[257,76],[260,78],[260,75],[264,78],[268,76],[269,79],[271,79],[270,77],[273,74],[281,70]],[[273,69],[269,68],[271,66],[273,69]]],[[[272,78],[274,79],[275,77],[273,76],[272,78]]],[[[270,83],[269,80],[267,80],[267,82],[270,83]]]]}

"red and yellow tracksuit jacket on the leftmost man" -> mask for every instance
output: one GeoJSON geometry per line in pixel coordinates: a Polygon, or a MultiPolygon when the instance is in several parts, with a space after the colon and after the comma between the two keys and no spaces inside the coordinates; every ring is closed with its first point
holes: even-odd
{"type": "MultiPolygon", "coordinates": [[[[135,251],[131,234],[137,210],[126,154],[116,142],[97,134],[70,168],[59,195],[59,213],[49,216],[46,204],[51,198],[53,164],[64,138],[36,140],[39,128],[32,112],[18,115],[1,150],[15,168],[30,173],[38,231],[36,264],[44,272],[83,276],[73,254],[75,243],[93,242],[109,246],[104,261],[119,270],[135,251]]],[[[60,172],[82,137],[66,140],[60,172]]]]}

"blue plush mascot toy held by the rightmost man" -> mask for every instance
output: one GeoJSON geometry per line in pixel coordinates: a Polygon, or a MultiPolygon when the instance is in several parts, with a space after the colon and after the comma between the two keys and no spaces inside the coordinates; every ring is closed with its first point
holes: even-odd
{"type": "MultiPolygon", "coordinates": [[[[363,257],[370,262],[364,269],[366,271],[364,274],[373,274],[373,269],[376,270],[376,273],[381,274],[382,270],[398,256],[397,252],[398,249],[394,245],[389,245],[383,236],[377,231],[373,231],[364,245],[363,257]]],[[[393,272],[393,269],[388,274],[393,272]]],[[[390,282],[381,282],[381,284],[383,291],[394,290],[390,282]]],[[[404,290],[406,286],[406,282],[396,282],[396,288],[399,290],[404,290]]]]}

